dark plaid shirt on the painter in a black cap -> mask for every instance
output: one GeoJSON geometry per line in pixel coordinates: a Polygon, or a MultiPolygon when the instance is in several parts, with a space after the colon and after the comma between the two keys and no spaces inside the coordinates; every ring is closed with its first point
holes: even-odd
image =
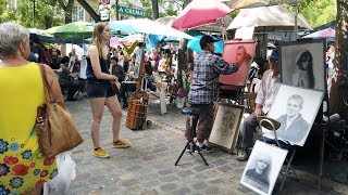
{"type": "Polygon", "coordinates": [[[228,64],[221,56],[209,51],[198,53],[194,58],[194,74],[188,93],[189,104],[210,104],[217,96],[219,75],[237,72],[239,66],[228,64]]]}

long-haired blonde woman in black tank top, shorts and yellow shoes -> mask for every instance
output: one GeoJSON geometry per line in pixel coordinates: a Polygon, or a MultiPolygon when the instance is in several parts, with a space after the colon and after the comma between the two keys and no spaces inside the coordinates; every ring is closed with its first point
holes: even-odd
{"type": "Polygon", "coordinates": [[[103,115],[104,105],[109,108],[113,121],[112,133],[113,147],[128,147],[130,143],[119,138],[122,109],[115,96],[112,84],[117,81],[117,77],[109,73],[110,56],[108,43],[111,38],[111,29],[108,23],[98,23],[95,26],[91,46],[87,51],[87,96],[91,107],[92,121],[90,134],[94,143],[92,155],[100,158],[108,158],[108,152],[100,147],[99,130],[103,115]]]}

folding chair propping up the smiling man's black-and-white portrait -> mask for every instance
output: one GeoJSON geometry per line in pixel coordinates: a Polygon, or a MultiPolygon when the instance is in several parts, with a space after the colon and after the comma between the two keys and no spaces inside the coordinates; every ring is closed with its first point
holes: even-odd
{"type": "Polygon", "coordinates": [[[259,121],[260,130],[261,130],[261,133],[262,133],[263,142],[265,142],[265,143],[270,143],[271,142],[272,143],[272,141],[273,141],[273,143],[275,142],[276,146],[278,146],[281,148],[285,148],[285,150],[287,150],[289,152],[289,156],[287,156],[285,158],[287,165],[285,167],[284,173],[282,172],[284,174],[283,176],[283,180],[282,180],[282,184],[279,186],[279,191],[282,191],[284,182],[286,180],[286,177],[289,173],[289,170],[291,170],[291,173],[299,181],[299,178],[296,174],[295,169],[291,167],[291,161],[293,161],[293,158],[294,158],[295,153],[296,153],[296,146],[287,144],[287,143],[284,143],[284,142],[278,140],[277,134],[276,134],[276,130],[279,129],[281,122],[276,121],[276,120],[274,120],[274,119],[272,119],[270,117],[266,117],[266,116],[259,116],[258,117],[258,121],[259,121]],[[273,131],[274,140],[271,140],[271,139],[266,140],[266,138],[263,136],[262,127],[268,129],[268,130],[270,130],[270,131],[273,131]]]}

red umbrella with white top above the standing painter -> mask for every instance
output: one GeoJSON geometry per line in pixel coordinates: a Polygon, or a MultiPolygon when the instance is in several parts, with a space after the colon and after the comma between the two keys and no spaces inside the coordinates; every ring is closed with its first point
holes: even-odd
{"type": "Polygon", "coordinates": [[[233,12],[221,0],[194,0],[177,16],[173,28],[192,28],[204,24],[215,23],[219,18],[233,12]]]}

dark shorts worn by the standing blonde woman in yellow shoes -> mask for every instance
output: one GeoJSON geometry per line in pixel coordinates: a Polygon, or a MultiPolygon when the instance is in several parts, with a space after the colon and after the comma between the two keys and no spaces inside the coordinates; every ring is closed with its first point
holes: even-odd
{"type": "Polygon", "coordinates": [[[115,95],[111,88],[111,82],[105,81],[87,81],[87,96],[88,99],[110,98],[115,95]]]}

